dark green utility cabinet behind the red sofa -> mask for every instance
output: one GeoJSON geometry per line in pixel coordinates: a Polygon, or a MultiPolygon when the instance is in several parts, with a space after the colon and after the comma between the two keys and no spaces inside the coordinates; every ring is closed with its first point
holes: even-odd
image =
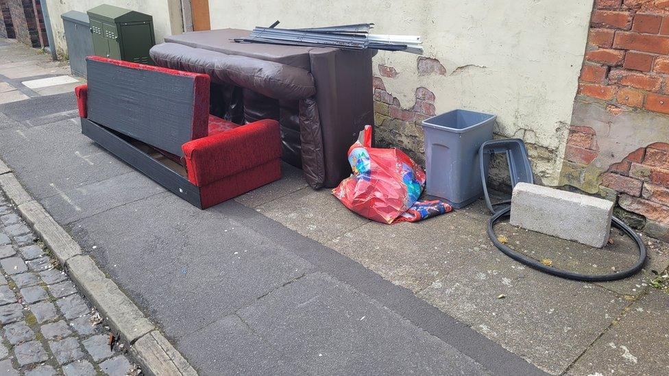
{"type": "Polygon", "coordinates": [[[149,49],[156,44],[156,38],[149,14],[103,4],[88,10],[88,18],[95,55],[153,64],[149,49]]]}

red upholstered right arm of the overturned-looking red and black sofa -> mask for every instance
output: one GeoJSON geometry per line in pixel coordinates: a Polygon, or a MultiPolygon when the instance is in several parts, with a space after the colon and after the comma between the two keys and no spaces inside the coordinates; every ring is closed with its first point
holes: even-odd
{"type": "Polygon", "coordinates": [[[279,123],[260,120],[186,142],[182,149],[188,180],[206,186],[281,156],[279,123]]]}

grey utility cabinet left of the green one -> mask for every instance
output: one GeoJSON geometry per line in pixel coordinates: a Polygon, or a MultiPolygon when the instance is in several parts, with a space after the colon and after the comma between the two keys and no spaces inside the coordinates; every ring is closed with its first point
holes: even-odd
{"type": "Polygon", "coordinates": [[[65,29],[70,70],[79,77],[86,77],[86,56],[93,55],[88,14],[71,10],[60,15],[65,29]]]}

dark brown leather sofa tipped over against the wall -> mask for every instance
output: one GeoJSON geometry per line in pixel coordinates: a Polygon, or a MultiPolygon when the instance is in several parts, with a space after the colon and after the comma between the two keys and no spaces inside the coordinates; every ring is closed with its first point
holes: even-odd
{"type": "Polygon", "coordinates": [[[211,77],[210,112],[234,123],[280,123],[282,160],[302,168],[313,188],[334,187],[351,173],[346,154],[374,123],[375,51],[236,43],[248,30],[167,36],[156,65],[211,77]]]}

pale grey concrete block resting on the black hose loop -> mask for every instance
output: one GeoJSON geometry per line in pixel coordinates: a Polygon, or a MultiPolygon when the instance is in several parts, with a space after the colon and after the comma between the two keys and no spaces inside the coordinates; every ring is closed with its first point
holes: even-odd
{"type": "Polygon", "coordinates": [[[602,248],[609,240],[613,203],[574,192],[518,183],[511,225],[602,248]]]}

